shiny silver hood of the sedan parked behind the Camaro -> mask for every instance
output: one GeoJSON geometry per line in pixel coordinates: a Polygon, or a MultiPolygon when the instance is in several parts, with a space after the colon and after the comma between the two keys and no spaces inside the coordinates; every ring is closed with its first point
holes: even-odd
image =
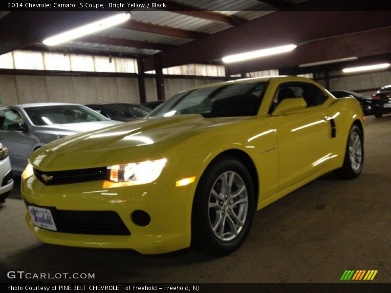
{"type": "Polygon", "coordinates": [[[119,121],[107,120],[96,122],[80,122],[80,123],[68,123],[68,124],[55,124],[39,126],[41,131],[64,131],[69,133],[79,133],[85,131],[96,130],[99,128],[120,124],[119,121]]]}

